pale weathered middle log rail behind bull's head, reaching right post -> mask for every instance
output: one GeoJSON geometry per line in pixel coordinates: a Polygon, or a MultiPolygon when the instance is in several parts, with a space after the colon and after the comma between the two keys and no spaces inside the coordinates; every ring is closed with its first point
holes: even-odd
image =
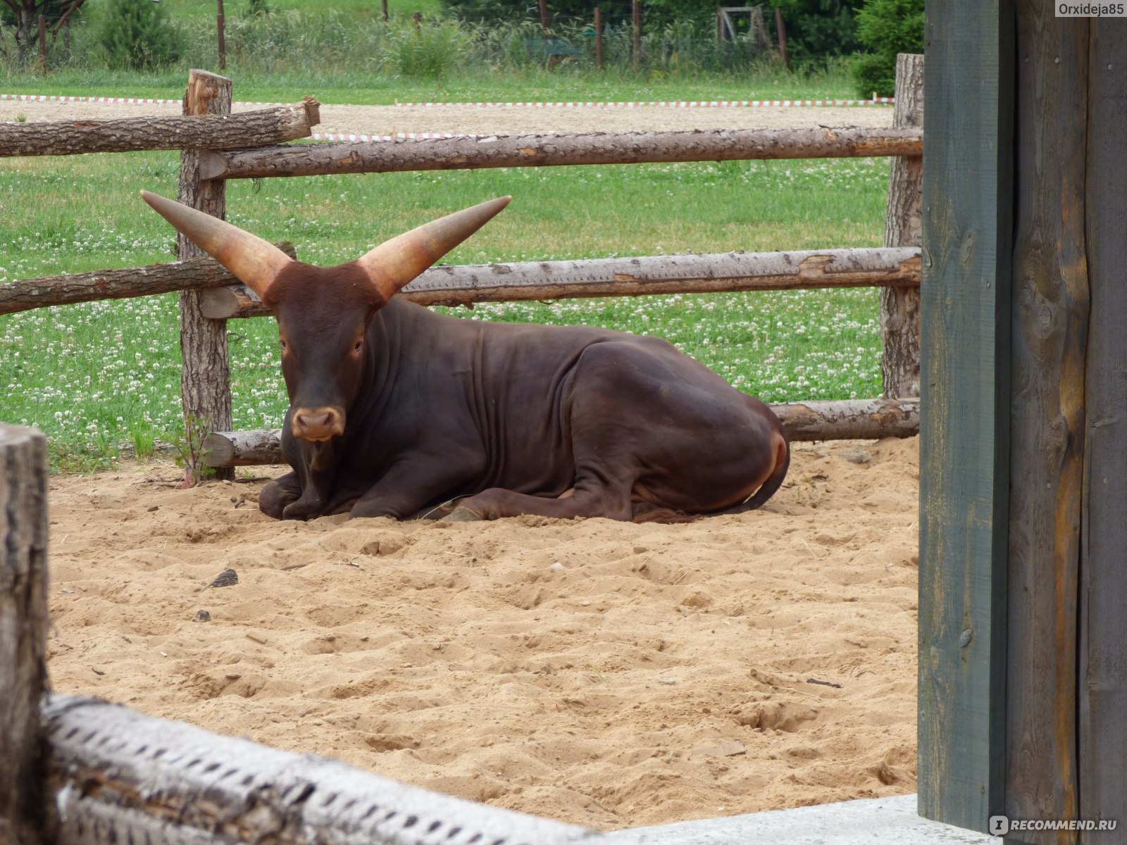
{"type": "MultiPolygon", "coordinates": [[[[795,252],[593,258],[432,267],[399,296],[420,305],[639,296],[716,291],[920,285],[920,249],[832,249],[795,252]]],[[[243,285],[202,294],[204,314],[263,317],[272,311],[243,285]]]]}

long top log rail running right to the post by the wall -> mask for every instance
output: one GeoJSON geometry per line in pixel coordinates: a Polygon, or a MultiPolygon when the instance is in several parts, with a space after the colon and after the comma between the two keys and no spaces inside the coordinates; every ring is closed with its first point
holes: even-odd
{"type": "Polygon", "coordinates": [[[400,170],[468,170],[483,167],[922,154],[923,131],[916,128],[870,130],[849,126],[589,132],[339,141],[208,152],[201,160],[201,177],[248,179],[267,176],[387,174],[400,170]]]}

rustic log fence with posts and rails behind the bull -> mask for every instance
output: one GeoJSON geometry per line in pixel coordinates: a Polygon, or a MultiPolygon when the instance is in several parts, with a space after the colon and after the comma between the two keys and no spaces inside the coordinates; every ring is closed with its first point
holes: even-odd
{"type": "MultiPolygon", "coordinates": [[[[339,172],[893,157],[885,249],[666,256],[437,267],[401,295],[425,304],[620,296],[706,291],[879,286],[882,400],[774,406],[793,439],[908,436],[919,430],[920,186],[923,57],[900,56],[894,128],[744,130],[455,137],[278,145],[309,136],[318,104],[231,115],[231,81],[192,71],[181,117],[0,125],[0,155],[180,149],[179,201],[225,215],[228,179],[339,172]]],[[[278,462],[276,433],[231,428],[227,319],[268,313],[183,235],[176,264],[26,279],[0,287],[0,313],[89,300],[180,291],[186,418],[210,421],[208,465],[278,462]]],[[[292,250],[291,250],[292,254],[292,250]]]]}

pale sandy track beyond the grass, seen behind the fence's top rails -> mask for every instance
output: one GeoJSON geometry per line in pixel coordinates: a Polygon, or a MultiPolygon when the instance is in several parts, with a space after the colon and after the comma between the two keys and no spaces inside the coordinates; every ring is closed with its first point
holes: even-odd
{"type": "MultiPolygon", "coordinates": [[[[243,112],[264,106],[238,105],[243,112]]],[[[399,132],[521,134],[529,132],[641,132],[657,130],[891,126],[890,106],[633,108],[535,106],[321,106],[322,134],[394,135],[399,132]]],[[[77,121],[178,115],[179,104],[32,103],[0,100],[0,121],[77,121]]]]}

